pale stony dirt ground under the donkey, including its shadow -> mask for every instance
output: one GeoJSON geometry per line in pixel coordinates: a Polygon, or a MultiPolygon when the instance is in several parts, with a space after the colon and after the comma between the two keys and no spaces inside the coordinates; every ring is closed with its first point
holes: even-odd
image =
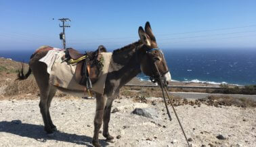
{"type": "MultiPolygon", "coordinates": [[[[26,95],[24,95],[26,96],[26,95]]],[[[186,146],[173,110],[169,121],[160,98],[147,98],[154,105],[131,98],[114,100],[110,134],[119,136],[102,146],[186,146]],[[131,114],[135,108],[150,110],[152,118],[131,114]]],[[[95,99],[54,98],[51,117],[58,127],[54,136],[43,131],[39,98],[0,100],[0,146],[92,146],[95,99]]],[[[175,107],[192,146],[256,146],[255,107],[213,107],[182,105],[175,107]],[[222,135],[224,140],[216,138],[222,135]]]]}

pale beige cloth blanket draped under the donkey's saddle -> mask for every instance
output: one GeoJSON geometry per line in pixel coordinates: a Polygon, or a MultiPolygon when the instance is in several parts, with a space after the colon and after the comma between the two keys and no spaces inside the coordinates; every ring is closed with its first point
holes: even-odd
{"type": "MultiPolygon", "coordinates": [[[[97,82],[95,82],[95,84],[93,84],[91,90],[93,92],[97,92],[98,94],[103,94],[112,53],[100,54],[102,54],[103,57],[103,67],[102,71],[100,71],[100,78],[97,82]]],[[[68,90],[84,91],[85,86],[81,86],[74,78],[74,72],[77,65],[68,64],[66,61],[63,61],[62,57],[64,55],[64,51],[53,49],[48,51],[47,55],[39,60],[47,65],[50,84],[61,88],[66,88],[68,90]]]]}

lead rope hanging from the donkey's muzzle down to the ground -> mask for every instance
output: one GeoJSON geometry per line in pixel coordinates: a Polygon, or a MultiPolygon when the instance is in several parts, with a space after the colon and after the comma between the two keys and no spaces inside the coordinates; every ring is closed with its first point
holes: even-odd
{"type": "MultiPolygon", "coordinates": [[[[190,144],[189,144],[189,142],[188,142],[188,138],[187,138],[187,136],[186,136],[186,134],[185,134],[185,131],[184,131],[183,127],[182,127],[182,123],[179,121],[179,117],[177,116],[177,113],[176,113],[176,111],[175,111],[175,109],[174,109],[174,107],[173,107],[173,102],[172,102],[172,100],[171,100],[171,98],[170,98],[170,96],[169,96],[169,94],[168,94],[168,92],[167,92],[166,85],[164,85],[164,84],[163,84],[163,80],[161,80],[161,74],[160,74],[160,72],[159,72],[159,70],[158,70],[158,67],[156,66],[156,63],[155,63],[155,62],[154,62],[154,65],[155,65],[156,70],[157,70],[157,72],[158,72],[158,77],[159,77],[158,80],[159,80],[159,82],[160,82],[160,84],[161,84],[162,92],[163,92],[163,88],[164,88],[164,89],[165,89],[165,92],[166,92],[166,94],[167,94],[167,96],[168,96],[168,98],[169,98],[169,101],[170,101],[170,103],[171,103],[171,107],[173,108],[173,111],[174,111],[175,116],[176,116],[176,118],[177,118],[177,121],[179,122],[179,126],[182,128],[182,133],[184,134],[184,137],[185,137],[185,139],[186,139],[186,142],[187,142],[188,146],[190,147],[190,144]]],[[[165,93],[164,93],[164,92],[163,92],[163,98],[164,98],[164,100],[165,100],[165,93]]],[[[166,102],[166,100],[165,100],[165,107],[166,107],[166,109],[167,109],[167,114],[168,114],[169,119],[170,119],[170,121],[171,121],[171,115],[170,115],[170,113],[169,113],[169,109],[168,109],[168,107],[167,107],[167,102],[166,102]]]]}

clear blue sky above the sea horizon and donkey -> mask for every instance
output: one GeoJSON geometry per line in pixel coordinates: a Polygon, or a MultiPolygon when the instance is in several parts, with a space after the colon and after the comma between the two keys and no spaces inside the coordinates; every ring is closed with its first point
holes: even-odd
{"type": "Polygon", "coordinates": [[[0,1],[0,51],[66,47],[119,49],[150,22],[161,49],[256,49],[255,0],[0,1]]]}

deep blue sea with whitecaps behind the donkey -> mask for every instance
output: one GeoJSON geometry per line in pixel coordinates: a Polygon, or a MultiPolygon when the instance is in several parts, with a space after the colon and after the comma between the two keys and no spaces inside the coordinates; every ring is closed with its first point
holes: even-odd
{"type": "MultiPolygon", "coordinates": [[[[28,62],[34,51],[0,51],[0,57],[28,62]]],[[[165,49],[171,78],[180,82],[256,84],[256,49],[165,49]]],[[[143,74],[141,80],[148,80],[143,74]]]]}

